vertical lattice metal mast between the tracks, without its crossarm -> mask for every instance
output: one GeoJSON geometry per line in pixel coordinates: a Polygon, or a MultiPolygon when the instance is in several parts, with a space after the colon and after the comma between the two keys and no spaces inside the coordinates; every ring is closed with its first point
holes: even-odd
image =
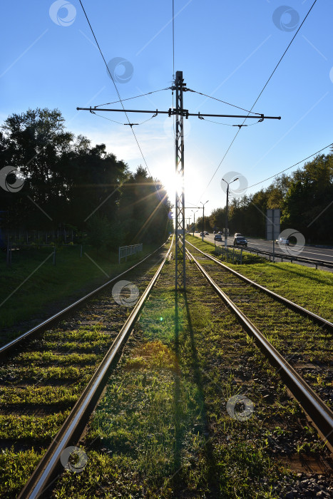
{"type": "Polygon", "coordinates": [[[175,290],[185,289],[185,196],[184,196],[184,128],[183,71],[175,73],[175,290]]]}

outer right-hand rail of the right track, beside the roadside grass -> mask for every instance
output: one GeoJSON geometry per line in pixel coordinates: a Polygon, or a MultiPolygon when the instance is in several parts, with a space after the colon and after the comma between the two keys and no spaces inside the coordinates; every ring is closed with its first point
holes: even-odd
{"type": "Polygon", "coordinates": [[[270,297],[278,300],[279,302],[285,304],[290,309],[292,309],[292,310],[294,310],[296,312],[299,312],[299,314],[302,314],[302,315],[304,315],[306,317],[310,317],[313,321],[317,322],[317,324],[320,324],[320,326],[325,326],[326,329],[328,329],[329,331],[333,332],[333,323],[332,322],[327,321],[327,319],[324,319],[323,317],[320,317],[319,315],[314,314],[314,312],[310,312],[308,309],[305,309],[304,307],[301,307],[300,305],[297,305],[297,303],[294,303],[291,300],[289,300],[289,299],[287,299],[285,297],[282,297],[280,294],[277,294],[274,291],[271,291],[267,287],[262,286],[261,284],[257,284],[257,282],[252,281],[251,279],[249,279],[248,277],[245,277],[242,274],[239,274],[238,272],[236,272],[236,270],[230,269],[230,267],[227,267],[227,265],[225,265],[222,262],[220,262],[220,260],[218,260],[217,258],[212,257],[212,255],[201,251],[201,249],[195,247],[189,241],[186,241],[186,242],[188,243],[188,245],[193,246],[198,252],[204,254],[206,258],[209,258],[213,262],[219,264],[224,269],[228,270],[229,272],[231,272],[235,276],[237,276],[240,279],[242,279],[243,281],[247,282],[247,284],[251,284],[252,286],[257,287],[258,289],[261,289],[261,291],[265,292],[270,297]]]}

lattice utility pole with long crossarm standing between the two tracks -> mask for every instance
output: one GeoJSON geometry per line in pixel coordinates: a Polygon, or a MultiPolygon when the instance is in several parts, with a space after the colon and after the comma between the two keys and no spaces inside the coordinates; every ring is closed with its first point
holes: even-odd
{"type": "MultiPolygon", "coordinates": [[[[263,114],[255,113],[247,115],[233,115],[233,114],[204,114],[204,113],[189,113],[188,109],[183,108],[183,92],[190,91],[190,88],[186,88],[186,84],[183,81],[183,71],[176,71],[175,73],[175,83],[169,88],[176,93],[176,106],[169,110],[148,110],[148,109],[110,109],[101,108],[99,106],[90,108],[76,108],[76,110],[87,110],[93,114],[96,111],[101,113],[102,111],[113,112],[113,113],[148,113],[152,114],[154,117],[159,114],[168,114],[169,116],[176,116],[176,127],[175,127],[175,173],[176,178],[178,178],[180,185],[180,192],[176,192],[175,195],[175,290],[185,289],[186,284],[186,274],[185,274],[185,196],[184,196],[184,128],[183,128],[183,118],[185,116],[188,119],[189,116],[196,116],[199,119],[207,117],[214,118],[246,118],[246,119],[259,119],[263,121],[265,119],[280,120],[280,116],[265,116],[263,114]]],[[[122,101],[121,101],[122,103],[122,101]]],[[[138,125],[138,123],[124,123],[124,125],[129,125],[130,128],[138,125]]],[[[241,127],[242,125],[235,125],[241,127]]],[[[203,213],[205,215],[205,207],[203,207],[203,213]]],[[[203,216],[205,220],[205,216],[203,216]]],[[[203,231],[204,232],[204,231],[203,231]]]]}

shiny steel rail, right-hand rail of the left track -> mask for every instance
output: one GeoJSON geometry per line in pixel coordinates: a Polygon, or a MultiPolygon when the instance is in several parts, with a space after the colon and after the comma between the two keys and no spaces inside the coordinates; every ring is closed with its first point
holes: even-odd
{"type": "Polygon", "coordinates": [[[141,309],[145,300],[148,298],[151,289],[155,285],[160,272],[163,269],[166,259],[170,254],[173,245],[173,240],[171,242],[168,253],[163,258],[163,262],[158,267],[155,272],[153,279],[151,279],[148,287],[143,292],[138,303],[133,308],[128,319],[126,319],[121,331],[119,332],[116,339],[113,341],[112,346],[108,350],[106,356],[104,356],[98,369],[93,374],[91,381],[89,381],[86,389],[81,394],[81,397],[76,402],[75,406],[69,413],[66,421],[61,426],[56,437],[53,439],[51,445],[48,447],[46,453],[44,454],[41,461],[34,470],[34,473],[29,478],[28,482],[21,490],[18,499],[25,498],[39,498],[43,497],[46,493],[46,489],[53,483],[52,480],[57,478],[57,475],[61,473],[61,453],[68,447],[76,443],[78,438],[81,436],[83,428],[86,426],[88,418],[96,406],[99,396],[103,391],[106,382],[108,381],[108,373],[110,371],[111,365],[115,357],[120,353],[125,340],[128,338],[130,331],[133,329],[135,321],[138,319],[141,309]]]}

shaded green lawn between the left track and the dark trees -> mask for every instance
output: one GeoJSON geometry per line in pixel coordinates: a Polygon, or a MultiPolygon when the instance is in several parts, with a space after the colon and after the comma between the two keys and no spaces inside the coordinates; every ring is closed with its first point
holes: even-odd
{"type": "MultiPolygon", "coordinates": [[[[6,267],[6,254],[1,253],[0,328],[38,314],[48,317],[131,267],[153,249],[155,247],[143,245],[143,252],[118,264],[116,253],[83,247],[83,256],[80,257],[79,246],[58,247],[55,266],[50,247],[20,249],[12,253],[11,268],[6,267]]],[[[8,333],[0,335],[0,344],[9,339],[8,333]]]]}

